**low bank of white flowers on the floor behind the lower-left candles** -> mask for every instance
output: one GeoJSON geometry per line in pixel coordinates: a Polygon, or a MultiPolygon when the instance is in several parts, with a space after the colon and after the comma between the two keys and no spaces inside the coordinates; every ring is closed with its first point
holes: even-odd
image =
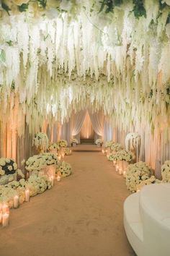
{"type": "Polygon", "coordinates": [[[32,175],[27,181],[20,179],[19,182],[13,181],[0,186],[0,202],[6,202],[9,208],[12,208],[15,195],[19,196],[19,204],[24,202],[26,189],[30,190],[30,197],[32,197],[51,187],[48,176],[32,175]]]}

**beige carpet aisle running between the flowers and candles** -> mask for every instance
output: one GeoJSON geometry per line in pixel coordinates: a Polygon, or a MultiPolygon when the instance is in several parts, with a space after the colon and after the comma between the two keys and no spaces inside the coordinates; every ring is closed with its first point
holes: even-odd
{"type": "Polygon", "coordinates": [[[122,221],[125,180],[95,145],[75,150],[65,158],[71,176],[11,210],[0,230],[1,256],[135,255],[122,221]]]}

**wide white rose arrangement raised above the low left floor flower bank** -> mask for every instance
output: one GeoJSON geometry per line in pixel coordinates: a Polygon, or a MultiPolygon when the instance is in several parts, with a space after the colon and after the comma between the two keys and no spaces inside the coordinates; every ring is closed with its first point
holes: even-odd
{"type": "Polygon", "coordinates": [[[33,155],[26,161],[27,171],[40,171],[46,166],[50,166],[58,163],[58,158],[53,153],[42,153],[40,155],[33,155]]]}

